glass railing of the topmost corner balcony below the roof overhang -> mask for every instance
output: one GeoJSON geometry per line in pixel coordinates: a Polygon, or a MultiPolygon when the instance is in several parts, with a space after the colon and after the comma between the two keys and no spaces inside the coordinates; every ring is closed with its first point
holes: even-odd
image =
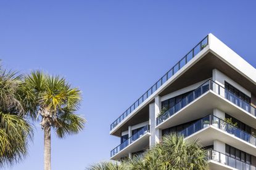
{"type": "Polygon", "coordinates": [[[204,93],[206,93],[209,90],[212,90],[218,95],[223,96],[224,98],[236,104],[236,106],[241,107],[241,109],[249,112],[249,114],[252,114],[254,116],[256,115],[256,109],[254,106],[242,100],[241,98],[239,98],[239,96],[235,95],[231,91],[222,87],[218,83],[212,80],[207,80],[207,82],[203,83],[202,85],[200,85],[200,87],[196,88],[196,90],[191,91],[191,93],[189,93],[185,98],[177,102],[175,106],[168,109],[167,112],[159,115],[159,117],[157,117],[157,125],[167,120],[167,118],[171,117],[171,115],[183,109],[183,107],[187,106],[190,102],[199,98],[199,96],[202,96],[204,93]]]}

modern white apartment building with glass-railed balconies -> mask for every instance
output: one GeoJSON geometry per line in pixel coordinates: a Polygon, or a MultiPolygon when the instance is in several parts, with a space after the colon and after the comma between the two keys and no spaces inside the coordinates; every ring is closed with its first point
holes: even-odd
{"type": "Polygon", "coordinates": [[[168,133],[199,139],[210,169],[256,169],[256,69],[207,35],[110,126],[132,157],[168,133]]]}

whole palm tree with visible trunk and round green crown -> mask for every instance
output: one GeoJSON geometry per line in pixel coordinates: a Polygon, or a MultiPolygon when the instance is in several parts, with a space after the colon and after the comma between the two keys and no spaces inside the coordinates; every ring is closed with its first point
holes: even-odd
{"type": "Polygon", "coordinates": [[[64,78],[33,71],[25,76],[23,94],[28,113],[39,119],[44,130],[44,169],[51,169],[51,128],[57,137],[76,134],[85,119],[74,114],[81,101],[81,91],[72,88],[64,78]]]}

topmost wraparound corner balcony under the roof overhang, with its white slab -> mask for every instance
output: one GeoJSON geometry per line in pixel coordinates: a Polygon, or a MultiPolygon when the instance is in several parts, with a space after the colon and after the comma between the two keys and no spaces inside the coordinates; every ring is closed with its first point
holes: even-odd
{"type": "Polygon", "coordinates": [[[175,106],[168,109],[167,112],[159,115],[159,117],[157,117],[157,128],[167,128],[167,124],[170,125],[171,122],[173,123],[174,121],[171,121],[171,118],[176,117],[175,120],[178,121],[178,117],[181,117],[181,115],[176,115],[178,112],[187,114],[183,115],[183,117],[196,118],[194,115],[188,114],[189,112],[197,112],[197,114],[200,115],[198,108],[203,112],[208,112],[210,109],[215,108],[222,109],[255,128],[255,107],[212,80],[203,83],[200,87],[196,88],[196,90],[191,91],[186,98],[181,99],[175,106]],[[192,103],[194,107],[191,106],[192,103]],[[239,107],[239,109],[237,109],[237,107],[239,107]],[[246,112],[246,114],[243,114],[244,112],[246,112]],[[252,117],[254,119],[252,119],[252,117]]]}

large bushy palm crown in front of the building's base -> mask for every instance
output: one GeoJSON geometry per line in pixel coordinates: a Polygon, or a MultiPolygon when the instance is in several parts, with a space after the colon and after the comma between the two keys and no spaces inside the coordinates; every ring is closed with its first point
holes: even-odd
{"type": "Polygon", "coordinates": [[[155,145],[144,157],[146,164],[154,161],[157,169],[208,169],[207,153],[199,142],[184,140],[176,133],[163,137],[162,143],[155,145]]]}

